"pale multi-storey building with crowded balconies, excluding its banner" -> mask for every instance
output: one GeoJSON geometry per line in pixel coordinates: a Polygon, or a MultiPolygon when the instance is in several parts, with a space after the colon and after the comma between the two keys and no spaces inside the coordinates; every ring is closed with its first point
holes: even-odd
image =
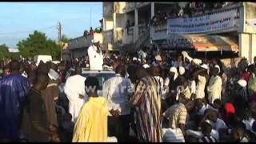
{"type": "MultiPolygon", "coordinates": [[[[186,6],[194,7],[195,2],[103,2],[103,45],[108,50],[134,50],[150,43],[156,43],[158,46],[162,46],[162,44],[168,46],[170,45],[170,38],[176,37],[177,34],[180,36],[185,35],[186,39],[189,39],[187,37],[193,38],[193,35],[186,36],[188,34],[202,34],[195,37],[228,39],[226,43],[232,43],[234,47],[238,47],[240,56],[248,58],[250,62],[253,61],[256,55],[256,50],[254,50],[256,47],[256,31],[254,29],[254,22],[256,22],[255,2],[232,2],[227,6],[214,7],[214,9],[206,10],[205,13],[196,12],[190,16],[190,18],[196,19],[196,17],[219,14],[225,19],[225,15],[229,10],[237,10],[237,12],[234,12],[236,15],[230,16],[230,18],[235,18],[235,20],[231,19],[232,22],[236,22],[236,24],[233,23],[233,27],[193,31],[193,33],[186,34],[172,34],[167,33],[171,23],[174,23],[174,19],[168,23],[167,19],[170,19],[170,17],[166,21],[157,22],[154,26],[147,25],[150,19],[158,14],[158,11],[160,11],[160,14],[168,14],[177,9],[180,10],[179,8],[185,10],[186,6]],[[127,20],[130,20],[131,25],[128,30],[126,27],[127,20]],[[208,37],[209,35],[213,36],[208,37]]],[[[214,18],[214,16],[212,17],[214,18]]],[[[229,22],[231,21],[229,20],[229,22]]],[[[222,22],[224,21],[222,20],[222,22]]],[[[186,22],[179,24],[186,24],[186,22]]],[[[192,39],[190,40],[193,41],[192,39]]],[[[222,50],[222,47],[217,46],[216,49],[222,50]]]]}

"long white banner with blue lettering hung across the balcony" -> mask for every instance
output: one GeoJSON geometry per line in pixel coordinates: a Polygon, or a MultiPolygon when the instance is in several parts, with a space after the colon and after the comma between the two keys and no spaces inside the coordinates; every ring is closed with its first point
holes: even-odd
{"type": "Polygon", "coordinates": [[[170,18],[167,21],[168,34],[196,34],[238,28],[238,9],[216,14],[205,14],[193,18],[170,18]]]}

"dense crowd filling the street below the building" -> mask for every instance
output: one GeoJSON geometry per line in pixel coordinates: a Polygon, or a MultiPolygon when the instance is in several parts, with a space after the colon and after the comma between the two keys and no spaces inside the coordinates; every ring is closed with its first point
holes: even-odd
{"type": "Polygon", "coordinates": [[[255,142],[256,58],[224,70],[186,51],[114,54],[99,62],[115,71],[102,95],[84,59],[1,61],[1,142],[255,142]]]}

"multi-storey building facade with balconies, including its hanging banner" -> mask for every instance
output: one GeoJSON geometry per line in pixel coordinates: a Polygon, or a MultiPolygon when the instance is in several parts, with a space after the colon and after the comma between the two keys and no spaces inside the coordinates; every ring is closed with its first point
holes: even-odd
{"type": "MultiPolygon", "coordinates": [[[[229,39],[222,43],[236,43],[239,56],[253,62],[255,19],[255,2],[103,2],[103,46],[108,50],[136,50],[150,44],[170,47],[170,38],[176,35],[203,34],[206,36],[200,38],[207,39],[210,35],[229,39]],[[230,14],[230,18],[226,18],[226,14],[230,14]],[[223,18],[214,21],[216,16],[223,18]],[[175,22],[180,21],[176,26],[182,26],[186,24],[185,19],[198,18],[210,18],[205,22],[210,23],[211,30],[192,30],[184,26],[179,29],[189,30],[186,33],[170,32],[175,22]]],[[[199,23],[198,28],[202,25],[199,23]]]]}

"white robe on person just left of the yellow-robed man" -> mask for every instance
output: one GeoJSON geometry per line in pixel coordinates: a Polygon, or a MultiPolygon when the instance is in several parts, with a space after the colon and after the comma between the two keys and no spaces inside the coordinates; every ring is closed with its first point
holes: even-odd
{"type": "Polygon", "coordinates": [[[83,103],[88,100],[84,84],[85,81],[86,78],[81,75],[74,75],[67,78],[64,86],[64,92],[70,101],[69,112],[72,115],[72,122],[76,122],[83,103]],[[79,94],[84,95],[84,98],[79,98],[79,94]]]}

